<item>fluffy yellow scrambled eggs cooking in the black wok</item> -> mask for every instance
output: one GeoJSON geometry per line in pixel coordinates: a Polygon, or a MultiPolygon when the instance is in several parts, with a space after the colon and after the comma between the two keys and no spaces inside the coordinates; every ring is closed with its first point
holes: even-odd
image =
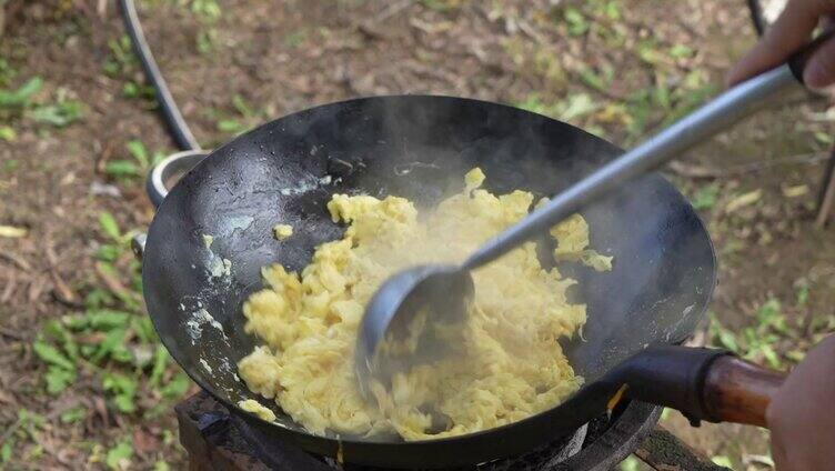
{"type": "MultiPolygon", "coordinates": [[[[405,440],[456,435],[500,427],[551,409],[576,391],[557,339],[585,322],[572,304],[574,284],[545,270],[529,242],[473,272],[475,298],[463,327],[463,352],[398,374],[376,403],[360,395],[353,368],[356,329],[365,303],[394,272],[427,262],[461,262],[480,244],[527,214],[525,191],[493,196],[480,189],[479,169],[463,193],[419,218],[398,197],[334,194],[334,221],[350,223],[341,240],[320,245],[299,275],[280,264],[262,270],[268,289],[245,302],[245,330],[263,339],[239,363],[250,390],[278,404],[309,431],[405,440]]],[[[542,203],[542,201],[540,202],[542,203]]],[[[596,270],[612,259],[590,250],[588,226],[574,216],[554,227],[557,260],[596,270]]]]}

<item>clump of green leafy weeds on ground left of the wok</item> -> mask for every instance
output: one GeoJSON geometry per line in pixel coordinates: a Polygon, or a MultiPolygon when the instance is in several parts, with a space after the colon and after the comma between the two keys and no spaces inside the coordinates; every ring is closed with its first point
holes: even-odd
{"type": "MultiPolygon", "coordinates": [[[[32,351],[47,368],[43,388],[59,395],[80,377],[92,377],[117,413],[154,417],[167,407],[159,399],[181,397],[190,382],[172,365],[142,312],[139,265],[128,247],[132,233],[121,230],[112,214],[102,212],[99,234],[97,272],[109,281],[89,290],[82,310],[46,321],[32,343],[32,351]],[[123,269],[125,262],[128,270],[123,269]],[[121,280],[125,272],[127,283],[121,280]],[[155,405],[140,405],[140,395],[157,398],[155,405]]],[[[64,411],[60,420],[71,423],[83,417],[84,411],[76,408],[64,411]]]]}

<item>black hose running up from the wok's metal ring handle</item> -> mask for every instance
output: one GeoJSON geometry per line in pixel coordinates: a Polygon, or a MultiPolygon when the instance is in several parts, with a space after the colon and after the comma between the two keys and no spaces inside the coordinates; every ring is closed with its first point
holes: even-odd
{"type": "Polygon", "coordinates": [[[119,6],[121,7],[120,10],[122,12],[124,27],[128,29],[128,34],[133,44],[133,51],[142,63],[142,70],[145,72],[145,78],[151,82],[151,86],[157,92],[157,101],[160,104],[162,118],[165,121],[165,124],[168,124],[169,131],[171,131],[171,137],[181,150],[200,150],[200,143],[194,139],[194,134],[191,133],[189,124],[183,119],[182,113],[180,113],[174,97],[171,96],[165,79],[162,77],[162,73],[160,73],[160,68],[153,59],[151,48],[145,41],[145,34],[142,32],[142,24],[139,22],[139,16],[137,14],[137,8],[133,4],[133,0],[119,0],[119,6]]]}

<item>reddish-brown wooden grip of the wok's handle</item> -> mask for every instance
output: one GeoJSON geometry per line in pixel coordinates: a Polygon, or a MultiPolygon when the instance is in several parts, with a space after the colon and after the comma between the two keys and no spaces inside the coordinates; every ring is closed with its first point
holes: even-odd
{"type": "Polygon", "coordinates": [[[766,427],[765,411],[785,378],[736,357],[717,358],[705,375],[705,409],[714,420],[766,427]]]}

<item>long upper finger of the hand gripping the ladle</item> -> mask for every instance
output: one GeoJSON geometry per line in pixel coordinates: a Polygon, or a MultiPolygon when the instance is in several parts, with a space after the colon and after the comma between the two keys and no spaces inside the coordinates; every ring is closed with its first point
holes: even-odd
{"type": "Polygon", "coordinates": [[[735,84],[783,63],[808,42],[822,17],[835,12],[835,0],[791,0],[777,21],[727,76],[735,84]]]}

